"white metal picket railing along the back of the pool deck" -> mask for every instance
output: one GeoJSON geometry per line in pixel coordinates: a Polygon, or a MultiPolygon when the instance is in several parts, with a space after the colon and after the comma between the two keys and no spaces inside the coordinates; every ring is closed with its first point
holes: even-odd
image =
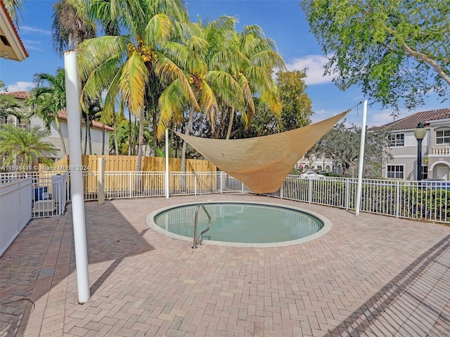
{"type": "MultiPolygon", "coordinates": [[[[0,183],[30,173],[1,173],[0,183]]],[[[162,197],[166,195],[165,172],[113,172],[104,174],[105,199],[162,197]]],[[[102,173],[83,172],[84,199],[98,199],[102,173]]],[[[70,201],[70,176],[33,173],[32,218],[58,216],[70,201]],[[58,186],[58,187],[57,187],[58,186]]],[[[280,189],[266,195],[311,204],[355,210],[356,178],[288,175],[280,189]]],[[[360,211],[397,218],[450,223],[450,182],[363,179],[360,211]]],[[[224,172],[170,172],[169,195],[196,195],[226,192],[252,193],[250,188],[224,172]]]]}

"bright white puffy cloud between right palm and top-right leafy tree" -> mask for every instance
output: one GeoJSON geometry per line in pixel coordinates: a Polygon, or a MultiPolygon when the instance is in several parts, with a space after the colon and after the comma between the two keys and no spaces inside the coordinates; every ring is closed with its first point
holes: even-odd
{"type": "Polygon", "coordinates": [[[324,66],[328,59],[323,55],[306,55],[302,58],[295,58],[293,62],[286,64],[288,70],[304,70],[307,69],[307,77],[304,82],[310,84],[325,84],[330,83],[333,76],[323,76],[324,66]]]}

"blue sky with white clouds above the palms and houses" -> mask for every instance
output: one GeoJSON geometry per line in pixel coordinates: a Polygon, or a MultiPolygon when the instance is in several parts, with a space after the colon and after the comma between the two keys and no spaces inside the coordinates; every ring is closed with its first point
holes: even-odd
{"type": "MultiPolygon", "coordinates": [[[[33,75],[41,72],[56,74],[63,67],[63,58],[53,51],[51,39],[52,5],[56,1],[25,0],[23,20],[20,20],[20,37],[30,57],[23,62],[0,58],[0,79],[9,91],[30,90],[33,75]]],[[[191,19],[196,21],[199,15],[203,21],[214,20],[220,15],[232,15],[238,18],[238,30],[243,25],[259,25],[267,37],[276,41],[278,51],[288,66],[288,70],[309,68],[306,82],[307,94],[311,98],[314,122],[326,119],[344,110],[354,107],[366,98],[358,87],[342,92],[331,83],[330,77],[323,77],[323,65],[326,58],[299,6],[300,0],[191,0],[187,1],[191,19]]],[[[449,103],[431,97],[426,105],[417,111],[449,107],[449,103]]],[[[393,120],[392,110],[382,110],[380,105],[371,105],[368,100],[368,126],[379,126],[393,120]]],[[[347,121],[361,124],[362,105],[347,115],[347,121]]],[[[399,118],[413,112],[402,111],[399,118]]]]}

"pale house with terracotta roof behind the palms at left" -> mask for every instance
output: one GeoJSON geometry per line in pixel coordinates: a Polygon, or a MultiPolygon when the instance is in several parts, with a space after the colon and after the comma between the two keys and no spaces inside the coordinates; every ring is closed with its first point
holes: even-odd
{"type": "MultiPolygon", "coordinates": [[[[11,93],[6,93],[6,95],[12,95],[16,100],[18,100],[18,103],[21,104],[23,101],[28,98],[28,92],[27,91],[15,91],[11,93]]],[[[68,141],[68,118],[67,118],[67,111],[62,110],[58,113],[58,121],[61,129],[61,133],[63,134],[63,139],[65,143],[65,148],[68,151],[69,150],[69,141],[68,141]]],[[[19,121],[16,117],[13,115],[9,115],[3,120],[0,120],[0,124],[14,124],[15,126],[19,127],[27,127],[23,121],[19,121]]],[[[39,126],[41,128],[45,128],[44,121],[40,119],[37,116],[32,116],[29,121],[30,127],[32,126],[39,126]]],[[[110,126],[103,126],[98,121],[92,121],[91,126],[91,145],[92,145],[92,152],[91,154],[102,154],[103,150],[103,143],[104,143],[104,154],[109,154],[109,143],[110,143],[110,133],[114,131],[114,128],[110,126]],[[103,130],[104,127],[104,130],[103,130]],[[103,132],[104,131],[104,132],[103,132]]],[[[82,130],[81,130],[81,137],[82,137],[82,149],[84,149],[84,140],[86,135],[86,128],[84,127],[84,122],[82,122],[82,130]]],[[[58,160],[62,157],[64,157],[63,153],[63,146],[60,141],[60,136],[58,133],[58,128],[56,127],[56,123],[53,121],[51,124],[51,129],[49,136],[46,136],[43,138],[44,141],[49,142],[53,144],[56,149],[58,149],[58,152],[56,153],[56,156],[52,159],[58,160]]],[[[89,154],[89,145],[87,148],[87,154],[89,154]]]]}

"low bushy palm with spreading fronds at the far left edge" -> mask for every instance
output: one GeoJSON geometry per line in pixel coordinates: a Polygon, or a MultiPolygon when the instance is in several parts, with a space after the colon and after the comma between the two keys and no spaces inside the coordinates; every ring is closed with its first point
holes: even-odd
{"type": "Polygon", "coordinates": [[[25,171],[34,167],[39,160],[49,164],[50,159],[46,156],[56,154],[53,144],[43,142],[42,138],[48,131],[34,126],[31,130],[25,130],[13,125],[6,124],[0,128],[0,152],[7,154],[4,164],[9,166],[15,164],[25,171]]]}

